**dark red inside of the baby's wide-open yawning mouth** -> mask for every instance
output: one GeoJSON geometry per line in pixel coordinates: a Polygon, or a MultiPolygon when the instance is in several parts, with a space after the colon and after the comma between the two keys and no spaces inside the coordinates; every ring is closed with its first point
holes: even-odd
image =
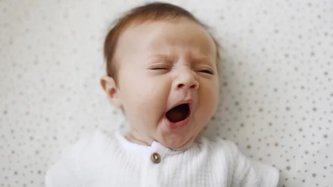
{"type": "Polygon", "coordinates": [[[173,107],[165,114],[165,116],[167,116],[168,120],[172,123],[177,123],[188,118],[189,114],[191,114],[189,111],[189,104],[185,103],[173,107]]]}

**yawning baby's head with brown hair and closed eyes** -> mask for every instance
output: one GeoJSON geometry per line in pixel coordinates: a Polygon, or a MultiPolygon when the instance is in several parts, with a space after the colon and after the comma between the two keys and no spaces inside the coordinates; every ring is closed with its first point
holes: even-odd
{"type": "Polygon", "coordinates": [[[129,141],[182,150],[219,100],[218,44],[190,12],[149,3],[117,20],[105,38],[101,84],[130,124],[129,141]]]}

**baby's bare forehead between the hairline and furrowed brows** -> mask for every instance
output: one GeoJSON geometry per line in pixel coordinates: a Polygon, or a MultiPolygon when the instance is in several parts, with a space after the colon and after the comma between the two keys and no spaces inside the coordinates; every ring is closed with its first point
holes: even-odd
{"type": "Polygon", "coordinates": [[[128,27],[119,37],[116,57],[188,53],[215,59],[216,50],[216,44],[206,28],[187,18],[179,18],[128,27]]]}

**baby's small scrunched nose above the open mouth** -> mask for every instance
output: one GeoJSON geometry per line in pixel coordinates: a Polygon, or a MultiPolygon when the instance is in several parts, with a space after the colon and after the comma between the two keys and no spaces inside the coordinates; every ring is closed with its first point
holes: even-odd
{"type": "Polygon", "coordinates": [[[198,89],[199,87],[199,82],[194,77],[194,73],[190,70],[180,72],[174,82],[174,89],[198,89]]]}

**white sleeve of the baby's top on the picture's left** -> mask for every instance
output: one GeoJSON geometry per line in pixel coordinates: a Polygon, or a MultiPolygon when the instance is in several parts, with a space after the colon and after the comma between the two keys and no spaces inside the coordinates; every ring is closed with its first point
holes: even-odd
{"type": "Polygon", "coordinates": [[[84,170],[80,169],[80,153],[87,147],[87,136],[83,136],[73,145],[62,150],[60,159],[47,170],[46,187],[78,187],[83,186],[84,170]]]}

